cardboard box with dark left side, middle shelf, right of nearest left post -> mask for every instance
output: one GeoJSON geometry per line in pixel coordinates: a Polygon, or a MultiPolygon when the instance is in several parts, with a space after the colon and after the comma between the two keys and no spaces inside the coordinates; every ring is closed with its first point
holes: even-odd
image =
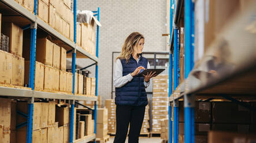
{"type": "Polygon", "coordinates": [[[46,38],[36,40],[36,61],[53,65],[53,43],[46,38]]]}

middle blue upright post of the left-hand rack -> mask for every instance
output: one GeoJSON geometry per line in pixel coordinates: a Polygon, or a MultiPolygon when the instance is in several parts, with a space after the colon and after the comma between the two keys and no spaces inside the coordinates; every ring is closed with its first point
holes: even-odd
{"type": "MultiPolygon", "coordinates": [[[[73,13],[74,13],[74,42],[76,44],[76,0],[73,1],[73,13]]],[[[72,53],[72,73],[73,73],[73,95],[75,95],[75,70],[76,70],[76,47],[75,52],[72,53]]],[[[73,142],[73,130],[74,130],[74,108],[75,101],[71,102],[71,110],[69,112],[69,142],[73,142]]]]}

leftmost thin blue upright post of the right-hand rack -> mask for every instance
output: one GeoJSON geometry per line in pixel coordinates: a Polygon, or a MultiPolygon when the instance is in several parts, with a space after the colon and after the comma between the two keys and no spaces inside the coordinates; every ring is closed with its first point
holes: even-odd
{"type": "MultiPolygon", "coordinates": [[[[169,53],[169,98],[172,95],[172,54],[169,53]]],[[[172,107],[169,103],[169,143],[172,143],[172,107]]]]}

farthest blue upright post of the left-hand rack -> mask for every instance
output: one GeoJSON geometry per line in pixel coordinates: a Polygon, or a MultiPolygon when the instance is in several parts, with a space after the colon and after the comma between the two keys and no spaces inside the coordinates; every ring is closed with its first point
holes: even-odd
{"type": "MultiPolygon", "coordinates": [[[[97,20],[99,21],[99,7],[97,9],[97,20]]],[[[99,26],[97,25],[96,57],[99,58],[99,26]]],[[[95,95],[98,96],[98,63],[95,69],[95,95]]],[[[97,101],[94,104],[94,133],[97,133],[97,101]]],[[[94,140],[96,142],[96,140],[94,140]]]]}

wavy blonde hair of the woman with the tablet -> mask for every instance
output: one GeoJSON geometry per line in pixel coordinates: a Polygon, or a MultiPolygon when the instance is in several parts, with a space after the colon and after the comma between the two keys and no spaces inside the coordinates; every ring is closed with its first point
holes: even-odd
{"type": "Polygon", "coordinates": [[[122,46],[121,54],[116,59],[126,59],[129,62],[131,58],[133,47],[138,44],[140,39],[144,39],[144,36],[139,32],[132,32],[126,39],[122,46]]]}

